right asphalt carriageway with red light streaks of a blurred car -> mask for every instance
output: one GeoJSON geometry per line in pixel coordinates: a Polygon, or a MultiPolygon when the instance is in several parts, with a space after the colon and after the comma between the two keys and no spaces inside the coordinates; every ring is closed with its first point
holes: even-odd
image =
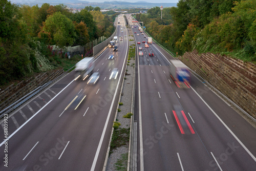
{"type": "MultiPolygon", "coordinates": [[[[131,17],[130,25],[136,42],[147,41],[131,17]]],[[[173,57],[154,41],[137,46],[137,170],[256,170],[255,128],[196,77],[179,89],[168,72],[173,57]]]]}

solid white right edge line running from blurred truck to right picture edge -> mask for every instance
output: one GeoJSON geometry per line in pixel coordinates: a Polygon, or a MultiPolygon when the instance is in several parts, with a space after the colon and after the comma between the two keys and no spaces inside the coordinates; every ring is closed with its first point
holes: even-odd
{"type": "Polygon", "coordinates": [[[240,141],[240,139],[234,135],[234,133],[229,129],[229,127],[222,121],[222,119],[210,108],[210,106],[204,101],[204,99],[190,86],[190,88],[198,95],[198,97],[204,102],[204,104],[209,108],[209,110],[214,113],[214,115],[221,121],[221,123],[226,127],[226,129],[230,132],[230,134],[236,138],[236,140],[244,147],[245,151],[251,156],[251,158],[256,162],[256,158],[251,154],[249,149],[240,141]]]}

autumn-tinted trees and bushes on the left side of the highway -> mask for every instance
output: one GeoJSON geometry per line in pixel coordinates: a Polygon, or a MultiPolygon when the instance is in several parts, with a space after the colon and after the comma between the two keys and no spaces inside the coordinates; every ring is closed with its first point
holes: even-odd
{"type": "Polygon", "coordinates": [[[41,7],[0,3],[0,85],[34,72],[61,67],[64,53],[52,54],[49,45],[85,45],[109,37],[113,17],[99,7],[72,13],[65,5],[41,7]]]}

